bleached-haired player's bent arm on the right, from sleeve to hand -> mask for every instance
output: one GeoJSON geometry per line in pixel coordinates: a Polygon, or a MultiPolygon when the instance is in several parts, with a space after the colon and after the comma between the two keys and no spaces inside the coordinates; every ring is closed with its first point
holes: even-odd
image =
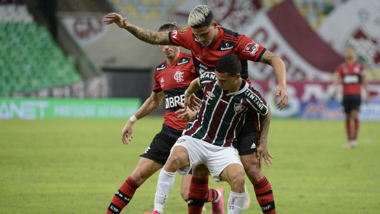
{"type": "Polygon", "coordinates": [[[279,86],[276,89],[276,96],[280,96],[279,102],[277,102],[277,108],[282,110],[288,104],[288,93],[286,84],[286,68],[282,59],[269,50],[265,50],[263,56],[261,56],[260,62],[271,65],[274,73],[279,81],[279,86]]]}

